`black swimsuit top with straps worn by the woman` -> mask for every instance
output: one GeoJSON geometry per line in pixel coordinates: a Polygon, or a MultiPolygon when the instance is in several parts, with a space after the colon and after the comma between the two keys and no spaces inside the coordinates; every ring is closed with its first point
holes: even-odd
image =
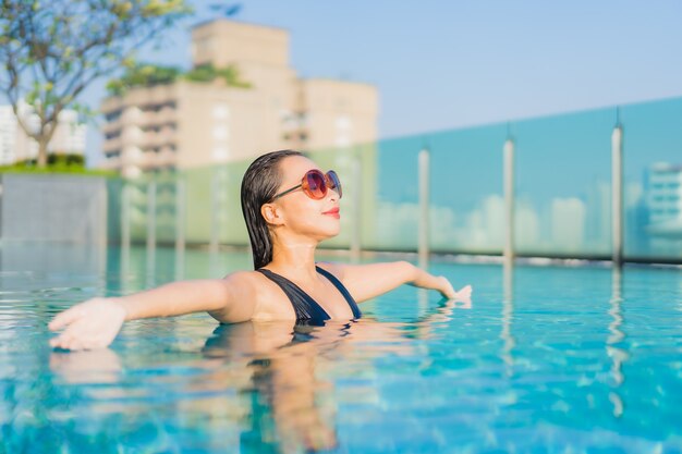
{"type": "MultiPolygon", "coordinates": [[[[341,281],[339,281],[336,275],[327,270],[324,270],[317,266],[315,267],[315,269],[318,273],[327,278],[333,284],[333,286],[339,290],[339,292],[341,292],[341,295],[343,295],[349,306],[351,307],[351,310],[353,311],[353,318],[361,318],[362,312],[357,308],[355,299],[353,299],[348,289],[343,286],[341,281]]],[[[329,317],[329,314],[327,314],[327,311],[322,309],[322,307],[310,297],[310,295],[305,293],[303,290],[301,290],[299,285],[294,284],[289,279],[270,270],[266,270],[265,268],[260,268],[256,271],[263,273],[263,275],[279,285],[284,294],[289,296],[291,305],[296,312],[296,323],[304,322],[306,324],[325,324],[325,320],[329,320],[331,318],[329,317]]]]}

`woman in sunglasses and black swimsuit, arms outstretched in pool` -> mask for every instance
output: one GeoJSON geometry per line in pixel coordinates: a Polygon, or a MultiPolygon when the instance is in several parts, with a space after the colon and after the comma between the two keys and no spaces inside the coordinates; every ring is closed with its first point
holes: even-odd
{"type": "Polygon", "coordinates": [[[208,311],[221,323],[291,320],[320,324],[361,317],[356,303],[407,283],[467,299],[406,261],[373,265],[316,263],[317,245],[340,230],[341,183],[301,152],[273,151],[256,159],[242,181],[242,211],[255,271],[220,280],[173,282],[124,297],[93,298],[61,314],[50,330],[64,331],[50,345],[105,347],[125,320],[208,311]]]}

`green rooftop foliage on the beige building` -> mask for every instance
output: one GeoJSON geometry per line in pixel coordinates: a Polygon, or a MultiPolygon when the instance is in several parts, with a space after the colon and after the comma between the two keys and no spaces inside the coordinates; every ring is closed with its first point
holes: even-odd
{"type": "Polygon", "coordinates": [[[230,87],[252,87],[249,83],[240,78],[239,70],[233,65],[216,69],[212,64],[202,64],[183,73],[175,66],[137,63],[130,65],[121,77],[109,81],[107,90],[110,96],[123,96],[129,89],[135,87],[172,84],[180,79],[209,83],[217,78],[224,81],[230,87]]]}

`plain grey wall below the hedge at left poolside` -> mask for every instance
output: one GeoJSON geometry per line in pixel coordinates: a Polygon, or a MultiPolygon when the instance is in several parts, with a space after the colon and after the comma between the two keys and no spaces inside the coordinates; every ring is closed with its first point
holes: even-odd
{"type": "Polygon", "coordinates": [[[105,243],[106,180],[0,174],[0,240],[105,243]]]}

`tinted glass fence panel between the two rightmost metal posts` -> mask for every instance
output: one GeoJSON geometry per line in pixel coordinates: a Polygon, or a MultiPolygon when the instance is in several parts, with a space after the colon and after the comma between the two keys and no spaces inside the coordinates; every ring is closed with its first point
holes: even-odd
{"type": "Polygon", "coordinates": [[[609,257],[614,109],[515,122],[515,245],[529,256],[609,257]]]}

